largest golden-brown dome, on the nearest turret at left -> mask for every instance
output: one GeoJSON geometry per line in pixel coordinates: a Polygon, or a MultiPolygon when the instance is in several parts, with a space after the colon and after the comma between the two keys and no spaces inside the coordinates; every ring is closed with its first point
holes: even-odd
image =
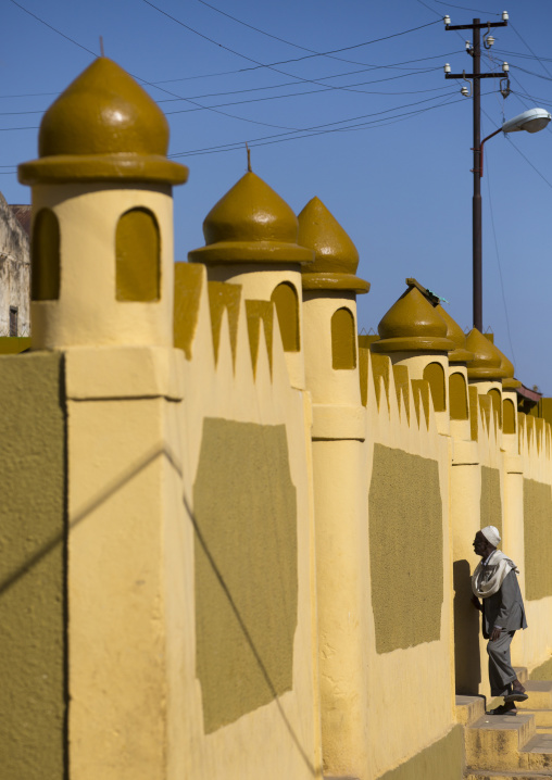
{"type": "Polygon", "coordinates": [[[168,124],[155,101],[104,56],[52,103],[38,135],[40,160],[20,166],[23,184],[134,178],[183,184],[168,161],[168,124]]]}

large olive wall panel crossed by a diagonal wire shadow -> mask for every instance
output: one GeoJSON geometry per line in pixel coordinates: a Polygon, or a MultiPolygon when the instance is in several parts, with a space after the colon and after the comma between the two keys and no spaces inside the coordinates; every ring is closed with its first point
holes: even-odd
{"type": "Polygon", "coordinates": [[[205,732],[291,690],[297,499],[284,425],[208,418],[193,486],[205,732]]]}

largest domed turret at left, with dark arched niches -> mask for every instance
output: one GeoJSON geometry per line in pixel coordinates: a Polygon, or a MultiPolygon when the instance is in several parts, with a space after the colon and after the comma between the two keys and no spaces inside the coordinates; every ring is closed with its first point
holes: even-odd
{"type": "Polygon", "coordinates": [[[172,185],[163,112],[99,58],[46,112],[33,187],[33,349],[173,344],[172,185]]]}

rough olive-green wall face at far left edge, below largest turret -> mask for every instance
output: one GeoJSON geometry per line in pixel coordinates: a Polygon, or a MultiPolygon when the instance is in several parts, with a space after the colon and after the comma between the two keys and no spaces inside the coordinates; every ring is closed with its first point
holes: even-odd
{"type": "Polygon", "coordinates": [[[63,358],[0,357],[0,775],[64,777],[63,358]]]}

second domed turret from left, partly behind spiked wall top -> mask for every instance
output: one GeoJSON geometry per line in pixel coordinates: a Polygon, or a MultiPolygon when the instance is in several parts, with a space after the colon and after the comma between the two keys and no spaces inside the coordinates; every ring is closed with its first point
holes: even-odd
{"type": "Polygon", "coordinates": [[[291,385],[303,389],[301,267],[313,253],[299,246],[298,229],[289,205],[248,172],[209,212],[205,247],[188,257],[206,265],[210,281],[239,284],[246,300],[274,304],[291,385]]]}

